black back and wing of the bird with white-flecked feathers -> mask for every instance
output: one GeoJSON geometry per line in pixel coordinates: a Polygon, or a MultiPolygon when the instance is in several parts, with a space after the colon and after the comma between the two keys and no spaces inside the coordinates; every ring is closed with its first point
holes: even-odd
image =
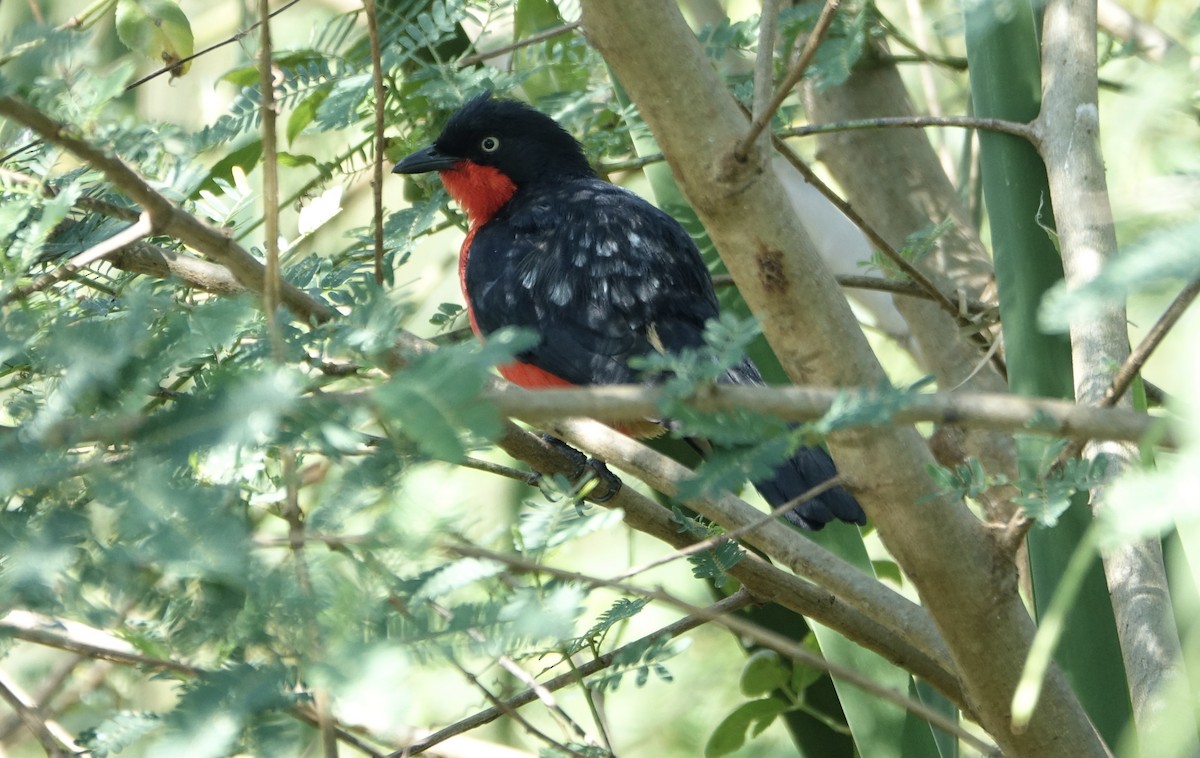
{"type": "Polygon", "coordinates": [[[484,335],[533,330],[518,357],[580,385],[636,381],[630,357],[702,344],[718,314],[683,227],[598,179],[518,193],[475,234],[466,282],[484,335]]]}

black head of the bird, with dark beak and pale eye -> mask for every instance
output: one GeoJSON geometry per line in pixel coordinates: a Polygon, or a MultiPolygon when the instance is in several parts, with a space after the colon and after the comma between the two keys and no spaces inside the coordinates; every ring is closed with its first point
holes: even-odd
{"type": "Polygon", "coordinates": [[[517,188],[547,178],[594,176],[580,143],[544,113],[491,92],[460,108],[424,150],[392,168],[396,174],[455,169],[462,162],[492,167],[517,188]]]}

